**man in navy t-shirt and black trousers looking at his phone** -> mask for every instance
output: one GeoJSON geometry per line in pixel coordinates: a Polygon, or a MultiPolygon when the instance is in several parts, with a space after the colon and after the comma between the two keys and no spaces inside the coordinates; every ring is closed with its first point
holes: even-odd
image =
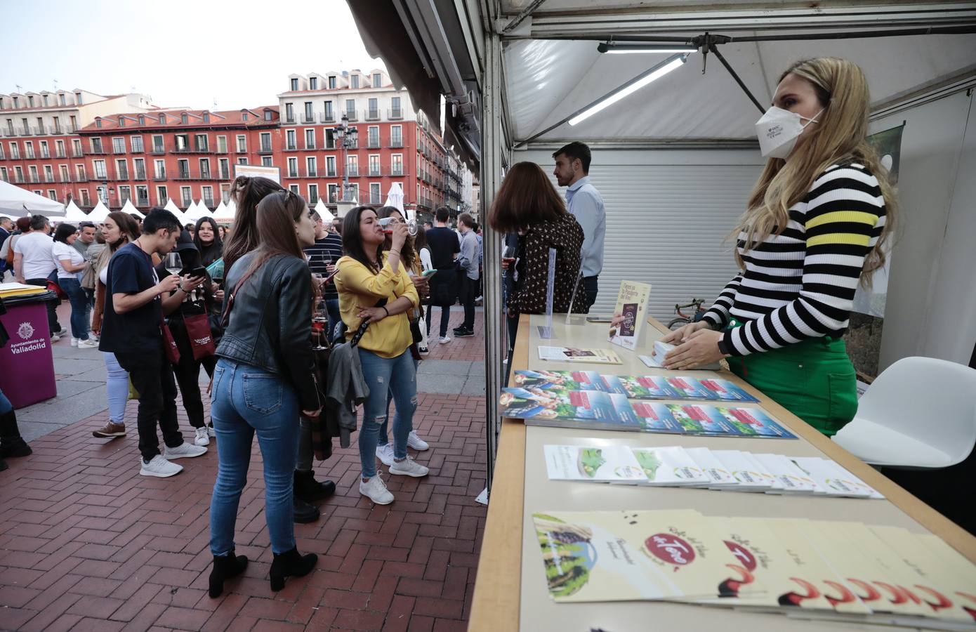
{"type": "Polygon", "coordinates": [[[142,476],[171,477],[183,467],[171,460],[199,456],[206,447],[183,442],[177,421],[177,385],[163,351],[160,323],[186,293],[203,282],[172,274],[159,280],[152,255],[165,256],[180,235],[176,216],[154,208],[142,221],[142,234],[118,249],[108,263],[105,310],[99,349],[115,354],[139,393],[139,451],[142,476]],[[156,424],[166,447],[159,451],[156,424]]]}

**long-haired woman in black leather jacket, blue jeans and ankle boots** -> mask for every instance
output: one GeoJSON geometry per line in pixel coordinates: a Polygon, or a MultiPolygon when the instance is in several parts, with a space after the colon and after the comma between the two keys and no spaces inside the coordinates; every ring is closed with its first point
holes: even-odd
{"type": "Polygon", "coordinates": [[[302,251],[314,243],[315,225],[305,200],[291,191],[264,197],[257,216],[258,248],[226,277],[226,328],[214,369],[211,417],[219,468],[210,505],[211,597],[247,565],[246,557],[234,555],[233,534],[255,433],[274,555],[271,590],[280,590],[286,576],[307,574],[317,560],[299,555],[292,522],[299,412],[314,417],[321,410],[311,351],[313,290],[302,251]]]}

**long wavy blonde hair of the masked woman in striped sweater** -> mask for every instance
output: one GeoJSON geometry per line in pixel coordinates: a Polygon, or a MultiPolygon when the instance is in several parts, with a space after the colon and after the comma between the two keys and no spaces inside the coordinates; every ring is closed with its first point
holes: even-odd
{"type": "MultiPolygon", "coordinates": [[[[733,235],[745,233],[745,250],[749,251],[775,232],[779,235],[790,221],[790,207],[799,202],[813,185],[814,179],[831,165],[857,162],[877,178],[884,197],[884,227],[877,243],[865,258],[862,285],[869,285],[874,271],[884,266],[883,245],[895,230],[897,202],[874,148],[868,145],[870,97],[868,79],[861,68],[847,60],[822,57],[793,63],[780,76],[796,75],[813,84],[824,111],[817,123],[797,140],[790,159],[770,158],[749,197],[749,207],[733,235]]],[[[745,269],[739,249],[735,260],[745,269]]]]}

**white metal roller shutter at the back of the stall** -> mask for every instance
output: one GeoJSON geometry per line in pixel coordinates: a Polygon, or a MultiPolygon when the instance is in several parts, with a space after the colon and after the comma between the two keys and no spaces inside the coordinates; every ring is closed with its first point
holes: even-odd
{"type": "MultiPolygon", "coordinates": [[[[516,151],[512,159],[537,162],[551,177],[552,150],[516,151]]],[[[761,167],[757,150],[594,150],[590,179],[603,195],[607,229],[590,312],[610,313],[624,279],[653,286],[648,311],[665,322],[692,297],[711,305],[737,272],[725,237],[761,167]]]]}

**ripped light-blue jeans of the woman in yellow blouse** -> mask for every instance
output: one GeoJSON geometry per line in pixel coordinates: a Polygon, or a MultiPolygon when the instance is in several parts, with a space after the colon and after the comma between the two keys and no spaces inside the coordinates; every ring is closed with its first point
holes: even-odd
{"type": "Polygon", "coordinates": [[[381,358],[359,347],[359,363],[369,386],[369,398],[363,407],[363,426],[359,430],[359,460],[364,479],[376,476],[376,446],[380,425],[386,421],[386,394],[393,396],[396,415],[393,420],[393,457],[407,456],[407,435],[413,428],[417,409],[417,369],[410,350],[396,358],[381,358]]]}

